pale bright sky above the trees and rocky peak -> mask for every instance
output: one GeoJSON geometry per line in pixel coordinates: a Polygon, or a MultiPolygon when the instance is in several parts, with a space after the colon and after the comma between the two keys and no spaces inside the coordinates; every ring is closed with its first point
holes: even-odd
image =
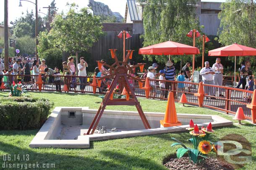
{"type": "MultiPolygon", "coordinates": [[[[35,0],[30,0],[35,2],[35,0]]],[[[119,12],[123,17],[125,15],[125,4],[126,0],[95,0],[98,2],[102,2],[109,6],[109,8],[113,12],[119,12]]],[[[202,0],[203,2],[225,2],[225,0],[202,0]]],[[[38,9],[41,10],[42,13],[47,13],[47,9],[43,7],[47,7],[50,5],[52,0],[38,0],[38,9]]],[[[76,3],[79,8],[86,7],[88,5],[89,0],[55,0],[56,6],[58,8],[58,12],[62,10],[66,12],[68,8],[66,7],[67,3],[76,3]]],[[[8,0],[8,22],[14,21],[16,18],[19,18],[22,15],[22,12],[26,13],[26,10],[35,10],[35,5],[26,1],[21,1],[22,7],[18,7],[19,0],[8,0]]],[[[40,14],[44,16],[44,14],[40,14]]],[[[0,0],[0,22],[4,20],[4,0],[0,0]]]]}

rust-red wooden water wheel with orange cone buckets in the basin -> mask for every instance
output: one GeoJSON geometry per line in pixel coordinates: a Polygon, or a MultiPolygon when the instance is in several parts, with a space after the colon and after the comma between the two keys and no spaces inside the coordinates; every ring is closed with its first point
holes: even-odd
{"type": "MultiPolygon", "coordinates": [[[[148,120],[146,119],[146,116],[141,108],[140,103],[138,102],[137,97],[135,96],[134,90],[133,88],[130,86],[129,82],[128,82],[128,78],[129,79],[133,79],[139,82],[139,86],[140,88],[142,88],[142,84],[143,82],[141,81],[141,79],[137,79],[133,76],[131,76],[130,74],[133,73],[133,69],[140,67],[141,72],[143,71],[144,68],[144,63],[138,63],[134,66],[129,66],[128,65],[128,59],[132,59],[132,55],[133,55],[133,51],[134,50],[127,50],[128,53],[125,57],[124,61],[118,61],[118,58],[116,56],[116,51],[117,49],[110,49],[111,52],[111,57],[113,59],[115,59],[115,63],[113,63],[111,66],[108,65],[107,63],[101,62],[101,61],[97,61],[98,62],[98,66],[99,69],[102,67],[102,65],[107,66],[110,68],[110,74],[107,76],[103,76],[100,78],[97,78],[97,82],[98,82],[98,86],[100,87],[101,84],[101,80],[102,79],[113,79],[112,83],[110,84],[110,87],[108,88],[108,91],[106,92],[104,99],[102,100],[100,107],[98,109],[97,114],[95,115],[93,121],[91,122],[91,125],[87,131],[86,134],[94,134],[94,131],[97,127],[97,125],[99,124],[99,120],[102,117],[102,114],[104,112],[104,109],[106,108],[107,105],[126,105],[126,106],[132,106],[135,105],[137,110],[138,110],[138,114],[141,117],[141,120],[144,124],[144,127],[146,129],[151,129],[148,120]],[[128,72],[130,74],[128,74],[128,72]],[[119,86],[124,86],[124,91],[125,91],[125,95],[126,95],[126,99],[113,99],[113,92],[115,87],[117,86],[117,84],[119,84],[119,86]]],[[[95,87],[95,84],[92,85],[95,87]]],[[[97,86],[97,85],[96,85],[97,86]]],[[[96,88],[96,87],[95,87],[96,88]]],[[[146,89],[145,89],[146,91],[146,89]]],[[[95,90],[96,92],[96,90],[95,90]]]]}

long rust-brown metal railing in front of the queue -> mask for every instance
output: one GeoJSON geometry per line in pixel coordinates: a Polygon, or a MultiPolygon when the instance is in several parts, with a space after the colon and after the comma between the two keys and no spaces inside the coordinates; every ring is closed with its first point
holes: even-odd
{"type": "MultiPolygon", "coordinates": [[[[11,84],[13,80],[16,80],[16,83],[18,83],[18,80],[15,78],[17,75],[8,75],[8,82],[3,81],[3,83],[11,84]]],[[[32,86],[34,84],[34,77],[38,77],[38,75],[23,75],[22,76],[22,84],[23,86],[26,86],[26,89],[29,91],[38,90],[38,89],[32,89],[32,86]],[[25,78],[29,77],[29,78],[25,78]],[[27,82],[24,82],[24,80],[29,80],[27,82]]],[[[86,92],[86,93],[93,93],[92,86],[89,86],[89,84],[92,83],[92,77],[86,76],[84,78],[87,79],[87,83],[85,84],[84,91],[81,91],[80,89],[80,83],[79,83],[79,76],[59,76],[60,81],[59,82],[53,82],[49,83],[49,76],[42,77],[44,82],[42,86],[42,91],[56,91],[56,84],[60,85],[61,89],[63,89],[64,85],[66,84],[68,87],[68,91],[73,92],[86,92]],[[45,79],[44,79],[45,78],[45,79]]],[[[81,77],[81,76],[80,76],[81,77]]],[[[56,79],[56,77],[54,77],[56,79]]],[[[53,79],[53,78],[51,78],[53,79]]],[[[4,79],[3,79],[4,80],[4,79]]],[[[6,77],[5,77],[6,80],[6,77]]],[[[145,81],[145,79],[141,79],[142,81],[145,81]]],[[[183,93],[186,94],[186,98],[188,101],[188,104],[198,105],[198,97],[194,94],[198,93],[199,84],[198,83],[191,83],[191,82],[184,82],[184,81],[167,81],[167,80],[161,80],[165,84],[165,89],[162,89],[159,87],[159,80],[150,80],[151,84],[154,84],[152,86],[152,89],[150,91],[149,99],[161,99],[161,100],[167,100],[167,95],[169,91],[174,92],[175,101],[179,101],[181,98],[181,95],[183,93]],[[167,88],[169,86],[169,88],[167,88]],[[182,88],[179,88],[182,87],[182,88]]],[[[103,80],[101,87],[97,87],[97,94],[104,94],[107,91],[108,84],[111,83],[111,80],[103,80]]],[[[144,84],[143,84],[144,86],[144,84]]],[[[244,114],[246,118],[251,119],[251,109],[247,108],[246,105],[251,103],[252,94],[253,91],[243,90],[243,89],[235,89],[232,87],[227,86],[214,86],[209,84],[203,84],[204,87],[204,102],[203,107],[208,107],[211,109],[216,109],[222,112],[225,112],[227,114],[235,114],[238,107],[242,107],[244,114]],[[223,96],[216,96],[215,94],[218,94],[217,91],[220,89],[223,96]],[[209,91],[209,93],[206,93],[209,91]],[[247,98],[246,100],[244,98],[247,98]]],[[[120,90],[118,91],[118,94],[121,94],[123,87],[119,86],[120,90]]],[[[1,89],[1,88],[0,88],[1,89]]],[[[136,96],[145,97],[145,91],[143,89],[139,88],[138,82],[133,82],[133,89],[135,91],[136,96]]]]}

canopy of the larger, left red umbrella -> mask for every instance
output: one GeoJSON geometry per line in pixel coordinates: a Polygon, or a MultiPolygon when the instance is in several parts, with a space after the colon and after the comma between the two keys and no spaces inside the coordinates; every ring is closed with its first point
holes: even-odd
{"type": "Polygon", "coordinates": [[[166,41],[164,43],[159,43],[152,46],[140,48],[138,53],[149,55],[184,55],[200,54],[200,51],[196,47],[176,43],[173,41],[166,41]]]}

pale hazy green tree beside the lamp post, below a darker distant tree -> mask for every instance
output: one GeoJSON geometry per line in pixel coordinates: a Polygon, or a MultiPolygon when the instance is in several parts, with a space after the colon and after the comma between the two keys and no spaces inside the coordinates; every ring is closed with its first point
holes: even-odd
{"type": "Polygon", "coordinates": [[[20,50],[20,54],[34,54],[36,52],[36,39],[30,36],[23,36],[16,39],[16,48],[20,50]]]}

